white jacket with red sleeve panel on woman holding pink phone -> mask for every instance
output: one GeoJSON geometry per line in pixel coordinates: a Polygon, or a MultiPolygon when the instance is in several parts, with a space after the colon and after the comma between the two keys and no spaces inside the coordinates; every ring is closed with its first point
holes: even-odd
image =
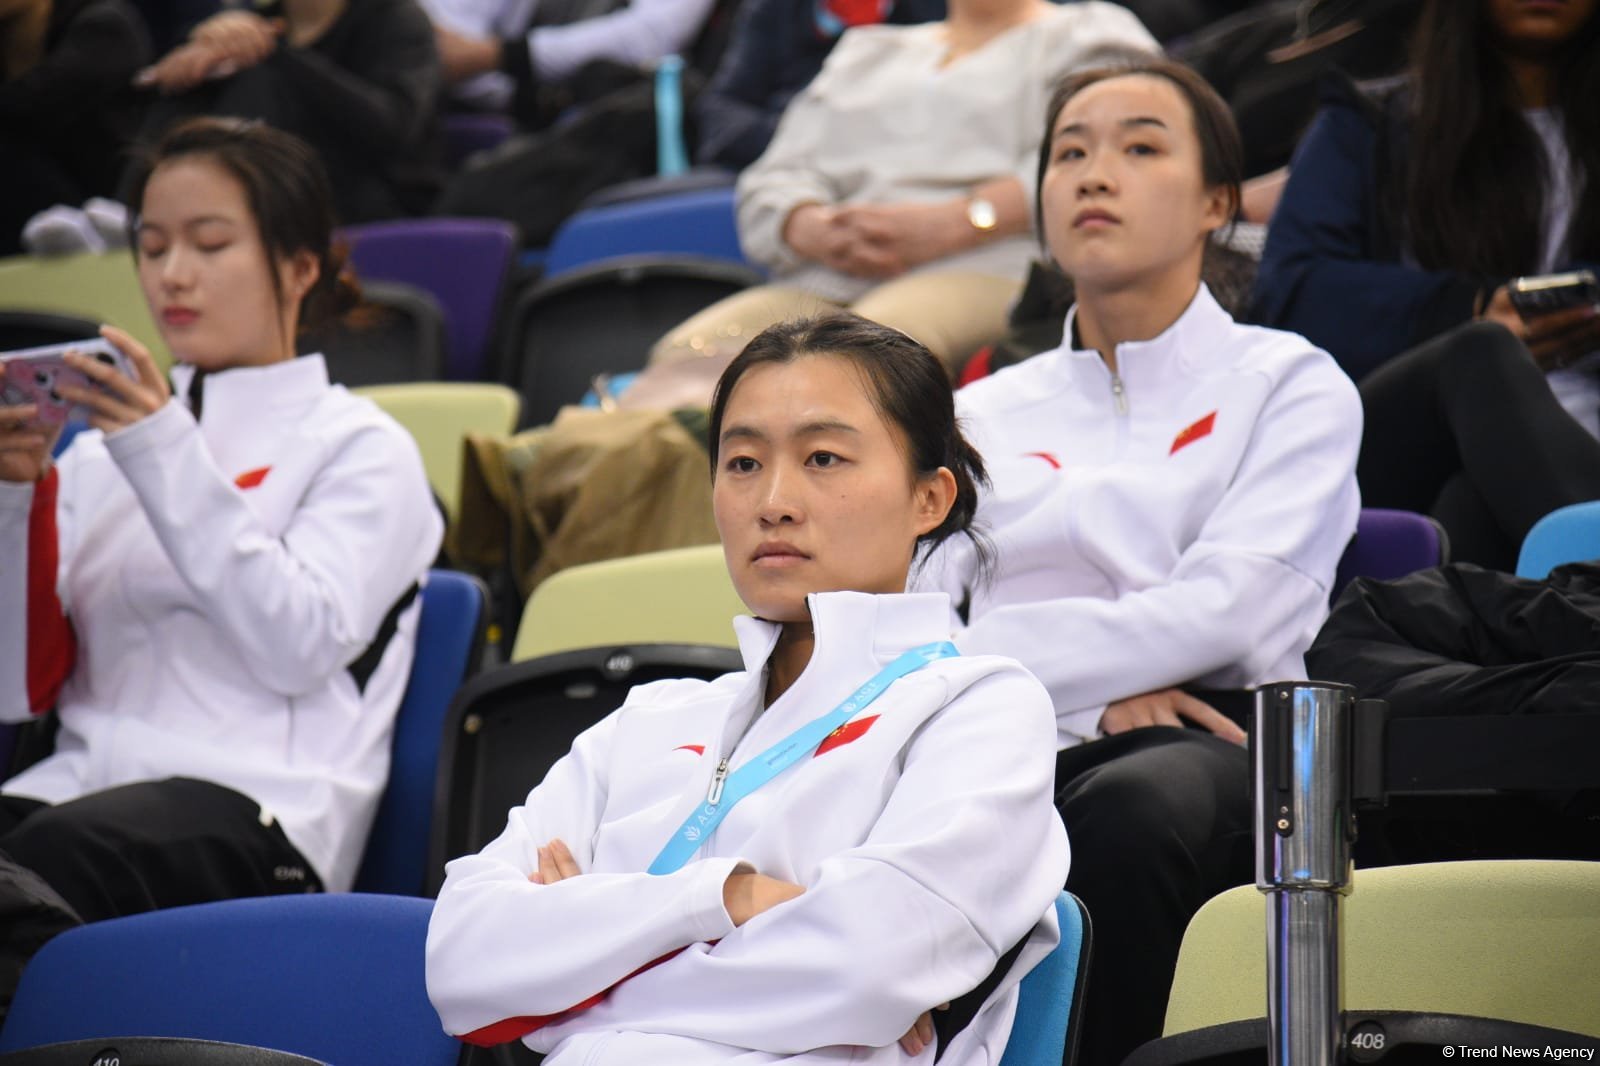
{"type": "MultiPolygon", "coordinates": [[[[174,370],[179,394],[190,376],[174,370]]],[[[80,434],[38,485],[0,482],[0,720],[45,711],[50,677],[70,669],[56,754],[0,787],[59,804],[214,781],[277,816],[326,888],[349,888],[416,603],[365,687],[350,667],[443,522],[416,443],[330,386],[320,355],[203,389],[198,424],[174,397],[109,437],[80,434]]]]}

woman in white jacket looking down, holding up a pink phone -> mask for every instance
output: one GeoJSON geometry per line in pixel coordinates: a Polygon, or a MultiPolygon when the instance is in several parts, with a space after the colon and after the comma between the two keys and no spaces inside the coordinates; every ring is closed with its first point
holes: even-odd
{"type": "Polygon", "coordinates": [[[56,709],[0,786],[0,853],[83,920],[346,890],[389,768],[442,522],[416,445],[294,357],[341,304],[326,174],[261,123],[176,126],[138,171],[139,282],[173,389],[83,354],[51,463],[0,408],[0,719],[56,709]]]}

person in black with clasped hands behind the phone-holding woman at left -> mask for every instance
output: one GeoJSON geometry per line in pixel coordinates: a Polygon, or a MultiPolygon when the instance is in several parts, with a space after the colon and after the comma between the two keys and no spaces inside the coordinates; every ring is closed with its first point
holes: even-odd
{"type": "Polygon", "coordinates": [[[333,176],[341,222],[418,214],[437,176],[438,54],[414,0],[283,0],[230,10],[141,72],[146,117],[261,118],[306,139],[333,176]]]}

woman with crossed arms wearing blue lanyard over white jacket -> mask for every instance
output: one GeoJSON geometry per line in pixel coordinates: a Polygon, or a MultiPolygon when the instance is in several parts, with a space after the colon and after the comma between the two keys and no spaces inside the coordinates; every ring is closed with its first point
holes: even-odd
{"type": "Polygon", "coordinates": [[[902,589],[976,504],[952,407],[926,349],[853,315],[734,360],[710,439],[747,669],[634,690],[448,866],[427,940],[448,1031],[550,1066],[931,1063],[933,1012],[968,1020],[941,1061],[998,1061],[1067,869],[1050,698],[1014,661],[893,682],[646,872],[757,755],[947,635],[947,599],[902,589]]]}

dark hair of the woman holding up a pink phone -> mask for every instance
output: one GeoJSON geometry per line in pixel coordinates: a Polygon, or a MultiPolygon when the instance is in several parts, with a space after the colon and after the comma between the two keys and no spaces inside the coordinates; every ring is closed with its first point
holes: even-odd
{"type": "Polygon", "coordinates": [[[317,152],[299,138],[242,118],[190,118],[144,149],[128,186],[128,237],[139,254],[139,208],[150,176],[165,163],[203,157],[245,187],[267,253],[272,291],[283,303],[277,264],[299,251],[317,258],[317,283],[301,301],[301,327],[314,327],[360,303],[360,288],[333,242],[333,187],[317,152]]]}

